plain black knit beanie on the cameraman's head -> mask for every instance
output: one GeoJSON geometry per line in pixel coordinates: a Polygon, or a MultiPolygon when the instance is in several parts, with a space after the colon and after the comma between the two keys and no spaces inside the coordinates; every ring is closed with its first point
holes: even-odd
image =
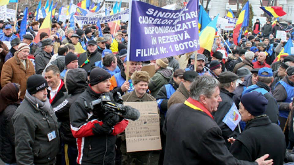
{"type": "Polygon", "coordinates": [[[94,68],[91,73],[90,73],[90,85],[95,85],[98,84],[99,82],[102,82],[106,79],[109,79],[111,75],[104,69],[102,68],[94,68]]]}

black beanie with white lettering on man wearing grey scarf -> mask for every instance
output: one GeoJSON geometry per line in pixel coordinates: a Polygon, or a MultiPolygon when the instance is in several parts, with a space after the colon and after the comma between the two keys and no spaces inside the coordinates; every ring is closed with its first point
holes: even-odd
{"type": "Polygon", "coordinates": [[[31,75],[27,80],[27,90],[30,95],[48,87],[46,79],[42,75],[31,75]]]}

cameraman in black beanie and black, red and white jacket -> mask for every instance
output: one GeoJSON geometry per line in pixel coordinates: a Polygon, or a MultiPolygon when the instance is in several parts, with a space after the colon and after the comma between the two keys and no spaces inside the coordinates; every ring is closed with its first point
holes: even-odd
{"type": "Polygon", "coordinates": [[[123,132],[128,120],[116,114],[103,113],[102,108],[89,111],[90,103],[104,94],[113,100],[109,92],[110,74],[102,68],[94,68],[87,89],[70,107],[70,125],[77,138],[77,163],[115,164],[116,135],[123,132]]]}

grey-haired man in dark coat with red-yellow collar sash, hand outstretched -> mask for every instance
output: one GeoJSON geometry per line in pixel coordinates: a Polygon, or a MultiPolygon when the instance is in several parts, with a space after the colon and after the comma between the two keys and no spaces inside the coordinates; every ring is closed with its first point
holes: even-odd
{"type": "Polygon", "coordinates": [[[256,162],[237,160],[232,156],[212,116],[221,101],[217,79],[208,75],[197,76],[191,84],[190,97],[184,103],[171,106],[166,114],[164,164],[273,163],[273,160],[265,161],[268,154],[256,162]]]}

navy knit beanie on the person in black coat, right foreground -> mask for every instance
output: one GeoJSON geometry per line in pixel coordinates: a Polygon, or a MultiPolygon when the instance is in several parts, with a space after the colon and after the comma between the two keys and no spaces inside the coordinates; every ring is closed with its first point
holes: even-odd
{"type": "Polygon", "coordinates": [[[241,97],[241,103],[251,115],[260,116],[266,112],[266,105],[268,104],[268,101],[262,93],[252,91],[241,97]]]}

